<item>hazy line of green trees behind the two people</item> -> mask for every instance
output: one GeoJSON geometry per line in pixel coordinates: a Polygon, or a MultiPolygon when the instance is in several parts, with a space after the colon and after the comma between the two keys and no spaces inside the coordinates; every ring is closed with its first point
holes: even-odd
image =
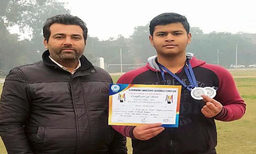
{"type": "MultiPolygon", "coordinates": [[[[0,76],[6,75],[13,67],[36,62],[41,59],[44,46],[42,43],[42,27],[51,16],[70,13],[65,3],[56,0],[2,0],[0,6],[0,76]],[[29,31],[31,40],[19,39],[18,34],[11,34],[10,27],[17,25],[21,32],[29,31]]],[[[229,67],[235,64],[236,45],[238,45],[238,64],[256,63],[256,34],[254,41],[246,34],[229,32],[211,32],[208,34],[198,27],[190,29],[192,43],[187,52],[208,63],[229,67]]],[[[107,64],[120,64],[120,48],[122,48],[123,64],[146,63],[147,58],[155,55],[155,49],[148,40],[149,25],[137,26],[129,38],[119,35],[108,40],[99,40],[88,36],[85,53],[89,60],[97,63],[96,57],[103,57],[107,64]]],[[[118,66],[120,67],[120,66],[118,66]]],[[[111,70],[109,70],[111,71],[111,70]]],[[[124,70],[127,71],[127,70],[124,70]]]]}

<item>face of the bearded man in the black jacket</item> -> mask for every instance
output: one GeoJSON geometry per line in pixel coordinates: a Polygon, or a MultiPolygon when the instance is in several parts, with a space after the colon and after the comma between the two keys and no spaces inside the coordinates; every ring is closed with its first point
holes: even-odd
{"type": "Polygon", "coordinates": [[[83,29],[78,25],[52,24],[49,41],[44,40],[45,48],[55,61],[78,60],[83,54],[85,41],[83,29]]]}

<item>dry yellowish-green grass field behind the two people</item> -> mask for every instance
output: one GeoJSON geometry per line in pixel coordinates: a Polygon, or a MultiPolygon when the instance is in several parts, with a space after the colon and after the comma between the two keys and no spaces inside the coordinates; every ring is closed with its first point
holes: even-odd
{"type": "MultiPolygon", "coordinates": [[[[218,154],[255,154],[256,153],[256,70],[231,71],[247,108],[245,116],[233,122],[216,121],[218,131],[218,154]]],[[[119,76],[112,76],[116,82],[119,76]]],[[[0,84],[0,92],[2,84],[0,84]]],[[[129,154],[132,153],[131,140],[127,139],[129,154]]],[[[6,154],[0,140],[0,154],[6,154]]]]}

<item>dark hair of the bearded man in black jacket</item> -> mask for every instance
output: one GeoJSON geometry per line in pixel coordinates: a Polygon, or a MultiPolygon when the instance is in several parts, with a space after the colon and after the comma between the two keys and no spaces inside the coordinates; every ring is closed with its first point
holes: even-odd
{"type": "Polygon", "coordinates": [[[47,42],[49,41],[49,37],[51,35],[50,26],[54,23],[80,26],[81,29],[83,29],[84,42],[86,41],[88,32],[86,24],[77,16],[73,16],[70,14],[59,14],[51,18],[48,18],[44,24],[43,35],[47,42]]]}

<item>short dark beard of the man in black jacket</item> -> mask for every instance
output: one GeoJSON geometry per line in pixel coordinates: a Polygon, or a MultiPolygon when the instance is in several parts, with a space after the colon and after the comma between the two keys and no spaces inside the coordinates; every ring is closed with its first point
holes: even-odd
{"type": "Polygon", "coordinates": [[[78,60],[83,52],[77,52],[77,50],[74,49],[75,52],[72,52],[70,54],[63,54],[62,50],[68,48],[68,47],[63,47],[63,48],[52,48],[49,47],[49,50],[51,51],[51,58],[53,58],[56,61],[65,61],[65,60],[78,60]]]}

